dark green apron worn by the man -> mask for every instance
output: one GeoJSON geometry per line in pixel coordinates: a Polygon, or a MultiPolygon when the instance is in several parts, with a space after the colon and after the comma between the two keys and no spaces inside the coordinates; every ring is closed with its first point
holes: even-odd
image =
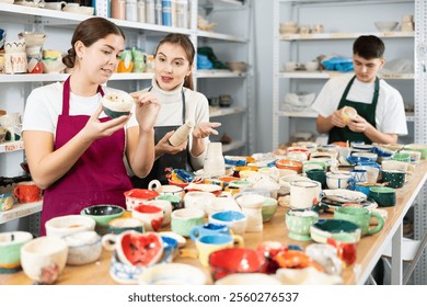
{"type": "MultiPolygon", "coordinates": [[[[338,110],[346,105],[353,106],[354,109],[356,109],[357,114],[363,117],[373,127],[377,127],[376,111],[377,111],[378,95],[380,92],[380,79],[378,79],[378,77],[376,79],[372,103],[367,104],[362,102],[347,100],[347,94],[350,91],[355,78],[356,76],[353,77],[351,80],[348,82],[347,88],[345,89],[343,96],[341,98],[338,110]]],[[[347,126],[345,126],[344,128],[339,128],[335,126],[330,130],[330,137],[327,140],[328,144],[332,144],[334,141],[347,141],[347,140],[349,141],[360,140],[360,141],[365,141],[365,144],[372,143],[363,133],[351,132],[347,126]]]]}

